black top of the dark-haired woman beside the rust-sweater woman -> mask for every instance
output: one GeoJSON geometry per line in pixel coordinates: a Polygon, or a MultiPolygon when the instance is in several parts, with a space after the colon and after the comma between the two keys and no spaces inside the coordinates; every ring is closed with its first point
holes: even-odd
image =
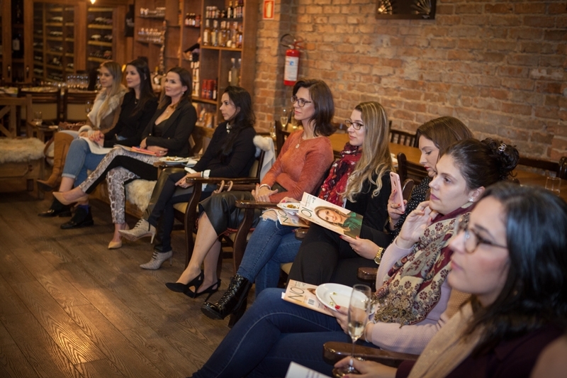
{"type": "MultiPolygon", "coordinates": [[[[232,144],[232,153],[228,156],[228,161],[223,164],[220,161],[220,152],[230,135],[226,132],[226,126],[226,122],[218,125],[205,153],[193,169],[197,172],[210,169],[210,177],[247,177],[252,164],[254,164],[256,146],[254,146],[253,139],[256,131],[252,127],[240,131],[232,144]]],[[[233,132],[231,131],[231,133],[233,132]]]]}

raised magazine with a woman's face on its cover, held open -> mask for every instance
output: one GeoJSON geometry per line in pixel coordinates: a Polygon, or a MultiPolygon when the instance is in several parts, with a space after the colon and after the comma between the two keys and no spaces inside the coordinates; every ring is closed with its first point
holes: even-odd
{"type": "Polygon", "coordinates": [[[347,235],[351,238],[360,236],[362,227],[362,216],[360,214],[331,204],[311,194],[303,193],[297,215],[340,235],[347,235]]]}

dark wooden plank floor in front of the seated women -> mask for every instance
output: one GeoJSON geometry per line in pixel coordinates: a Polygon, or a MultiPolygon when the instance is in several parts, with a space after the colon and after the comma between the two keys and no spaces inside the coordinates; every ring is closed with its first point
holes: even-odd
{"type": "MultiPolygon", "coordinates": [[[[6,186],[18,184],[0,184],[0,377],[186,377],[228,333],[228,319],[201,313],[203,297],[164,286],[184,268],[180,232],[172,267],[140,269],[149,239],[108,250],[107,205],[91,204],[95,226],[61,230],[69,218],[37,216],[51,195],[40,201],[6,186]]],[[[213,299],[228,286],[231,263],[213,299]]]]}

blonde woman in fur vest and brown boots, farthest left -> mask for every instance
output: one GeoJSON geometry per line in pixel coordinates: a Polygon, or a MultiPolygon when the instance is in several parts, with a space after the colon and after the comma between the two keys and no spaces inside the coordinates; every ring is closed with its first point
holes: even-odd
{"type": "MultiPolygon", "coordinates": [[[[122,70],[117,62],[107,60],[101,63],[99,67],[99,81],[101,83],[101,91],[94,99],[93,108],[86,115],[86,123],[79,131],[63,130],[55,134],[53,170],[51,176],[47,180],[37,180],[38,185],[44,191],[52,191],[61,181],[63,165],[67,157],[67,150],[72,141],[80,136],[90,136],[95,131],[100,130],[106,132],[112,128],[118,121],[120,116],[120,104],[123,96],[127,93],[125,87],[120,84],[122,82],[122,70]]],[[[56,216],[61,213],[70,215],[69,209],[61,204],[52,206],[53,211],[45,211],[40,216],[56,216]]]]}

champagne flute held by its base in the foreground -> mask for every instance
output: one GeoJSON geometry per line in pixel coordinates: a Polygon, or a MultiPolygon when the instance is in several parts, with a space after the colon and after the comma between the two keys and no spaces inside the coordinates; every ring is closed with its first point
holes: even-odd
{"type": "MultiPolygon", "coordinates": [[[[351,360],[354,360],[354,345],[366,329],[371,308],[371,295],[370,287],[366,285],[357,284],[352,287],[349,303],[349,336],[352,339],[351,360]]],[[[352,365],[349,365],[334,369],[333,374],[335,374],[335,377],[342,377],[344,374],[359,374],[359,372],[352,365]]]]}

